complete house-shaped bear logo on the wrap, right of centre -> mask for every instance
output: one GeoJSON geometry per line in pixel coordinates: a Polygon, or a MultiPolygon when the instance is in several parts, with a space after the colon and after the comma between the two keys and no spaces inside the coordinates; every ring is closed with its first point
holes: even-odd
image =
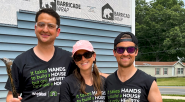
{"type": "Polygon", "coordinates": [[[108,3],[102,7],[102,19],[114,20],[114,10],[108,3]]]}

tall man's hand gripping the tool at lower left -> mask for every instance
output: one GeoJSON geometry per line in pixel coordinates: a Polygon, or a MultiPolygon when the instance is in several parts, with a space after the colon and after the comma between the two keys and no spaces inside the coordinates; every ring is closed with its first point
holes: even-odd
{"type": "Polygon", "coordinates": [[[6,97],[6,102],[21,102],[22,97],[19,96],[18,98],[13,98],[12,91],[8,91],[7,97],[6,97]]]}

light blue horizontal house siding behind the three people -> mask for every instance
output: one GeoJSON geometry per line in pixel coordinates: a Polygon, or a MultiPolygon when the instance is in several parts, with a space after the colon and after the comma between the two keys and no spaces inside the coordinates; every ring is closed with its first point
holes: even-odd
{"type": "MultiPolygon", "coordinates": [[[[0,58],[14,59],[22,52],[34,47],[37,39],[34,32],[35,13],[17,12],[17,25],[0,25],[0,58]]],[[[61,17],[61,33],[55,45],[72,50],[77,40],[89,40],[97,54],[97,66],[103,73],[113,73],[117,62],[113,56],[114,38],[122,31],[131,31],[130,26],[111,25],[75,18],[61,17]]],[[[5,65],[0,61],[0,102],[5,102],[7,81],[5,65]]]]}

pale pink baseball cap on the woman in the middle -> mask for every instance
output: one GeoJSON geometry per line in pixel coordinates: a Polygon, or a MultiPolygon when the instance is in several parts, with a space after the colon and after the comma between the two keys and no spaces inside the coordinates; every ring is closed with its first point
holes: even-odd
{"type": "Polygon", "coordinates": [[[88,40],[79,40],[73,45],[72,54],[74,55],[76,51],[82,49],[90,52],[94,51],[92,44],[88,40]]]}

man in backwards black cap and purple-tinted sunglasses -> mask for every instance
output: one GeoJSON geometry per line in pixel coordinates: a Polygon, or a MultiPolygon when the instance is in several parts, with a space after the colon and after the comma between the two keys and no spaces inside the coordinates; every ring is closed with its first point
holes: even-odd
{"type": "Polygon", "coordinates": [[[130,32],[120,33],[114,40],[114,56],[118,70],[106,80],[108,102],[162,102],[156,78],[134,66],[138,40],[130,32]]]}

